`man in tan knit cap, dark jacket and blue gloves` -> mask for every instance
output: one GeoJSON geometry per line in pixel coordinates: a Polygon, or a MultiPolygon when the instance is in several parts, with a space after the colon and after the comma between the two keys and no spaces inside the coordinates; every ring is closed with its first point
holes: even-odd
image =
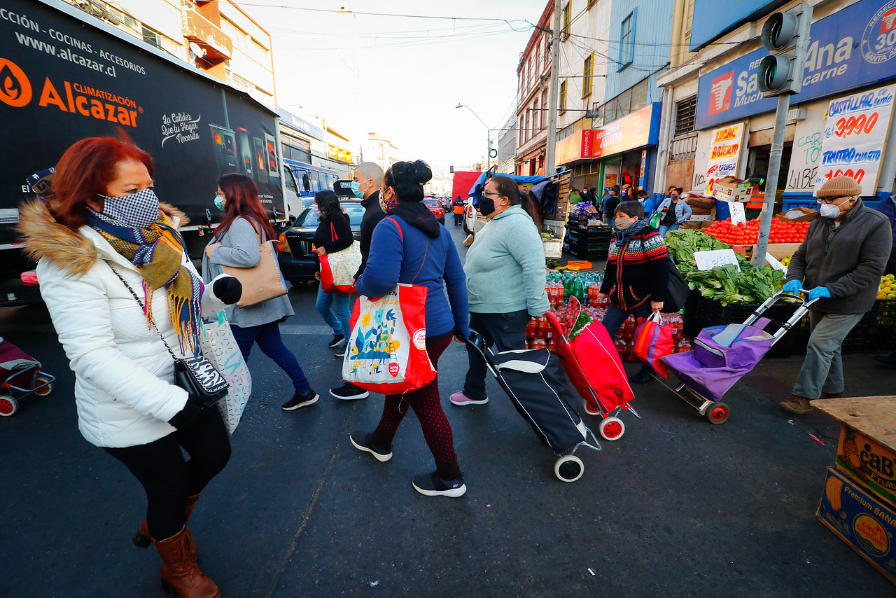
{"type": "Polygon", "coordinates": [[[812,411],[809,401],[835,398],[844,390],[840,345],[872,308],[890,257],[892,231],[886,217],[859,197],[853,178],[834,177],[818,191],[819,210],[790,260],[784,290],[809,291],[812,334],[793,394],[780,403],[793,413],[812,411]]]}

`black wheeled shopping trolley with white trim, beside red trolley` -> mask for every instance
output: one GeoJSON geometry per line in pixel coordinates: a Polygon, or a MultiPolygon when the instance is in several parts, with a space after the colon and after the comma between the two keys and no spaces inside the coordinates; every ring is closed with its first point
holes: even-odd
{"type": "Polygon", "coordinates": [[[561,481],[576,481],[585,472],[574,455],[579,446],[599,451],[594,433],[569,403],[572,390],[563,368],[547,349],[501,351],[487,348],[482,336],[470,331],[468,346],[477,351],[516,411],[529,422],[536,436],[558,456],[554,473],[561,481]],[[588,435],[594,444],[588,443],[588,435]]]}

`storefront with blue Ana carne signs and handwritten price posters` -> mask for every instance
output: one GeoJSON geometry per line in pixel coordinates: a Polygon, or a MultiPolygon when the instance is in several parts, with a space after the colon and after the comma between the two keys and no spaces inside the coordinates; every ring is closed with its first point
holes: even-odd
{"type": "MultiPolygon", "coordinates": [[[[797,2],[724,0],[719,14],[696,26],[707,0],[695,0],[688,52],[659,78],[674,106],[663,132],[668,147],[664,178],[679,183],[681,147],[676,115],[693,101],[693,173],[688,187],[711,193],[714,181],[732,175],[764,176],[771,153],[775,98],[758,91],[762,26],[770,13],[797,2]],[[697,38],[699,34],[699,39],[697,38]],[[720,149],[720,143],[725,143],[720,149]],[[725,160],[719,160],[724,153],[725,160]]],[[[846,174],[862,186],[866,201],[890,195],[896,176],[896,22],[888,0],[810,0],[813,18],[802,91],[791,96],[784,131],[778,195],[811,199],[828,178],[846,174]],[[871,108],[868,108],[868,107],[871,108]],[[857,126],[861,122],[862,126],[857,126]]],[[[715,4],[714,4],[715,5],[715,4]]],[[[687,13],[683,13],[686,17],[687,13]]],[[[686,44],[686,46],[683,46],[686,44]]],[[[690,109],[690,108],[688,108],[690,109]]],[[[682,185],[685,186],[685,185],[682,185]]]]}

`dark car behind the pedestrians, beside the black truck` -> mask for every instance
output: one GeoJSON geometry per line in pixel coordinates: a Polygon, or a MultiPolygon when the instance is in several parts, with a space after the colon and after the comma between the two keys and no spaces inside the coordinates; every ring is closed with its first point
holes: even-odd
{"type": "MultiPolygon", "coordinates": [[[[343,212],[349,214],[351,232],[356,239],[361,238],[361,219],[364,218],[364,206],[359,201],[340,201],[343,212]]],[[[280,234],[280,272],[283,278],[297,284],[314,281],[317,272],[317,259],[314,256],[313,239],[317,230],[317,216],[314,210],[307,208],[299,214],[296,222],[280,234]]]]}

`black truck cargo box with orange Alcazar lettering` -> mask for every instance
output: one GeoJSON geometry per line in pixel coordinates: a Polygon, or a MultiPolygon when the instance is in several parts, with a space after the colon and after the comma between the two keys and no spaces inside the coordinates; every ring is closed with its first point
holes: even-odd
{"type": "Polygon", "coordinates": [[[223,174],[253,178],[271,221],[288,220],[273,109],[69,4],[3,0],[0,9],[0,307],[40,300],[22,282],[35,264],[15,230],[33,196],[25,179],[84,137],[124,132],[151,154],[156,195],[190,220],[181,230],[191,258],[220,221],[223,174]]]}

